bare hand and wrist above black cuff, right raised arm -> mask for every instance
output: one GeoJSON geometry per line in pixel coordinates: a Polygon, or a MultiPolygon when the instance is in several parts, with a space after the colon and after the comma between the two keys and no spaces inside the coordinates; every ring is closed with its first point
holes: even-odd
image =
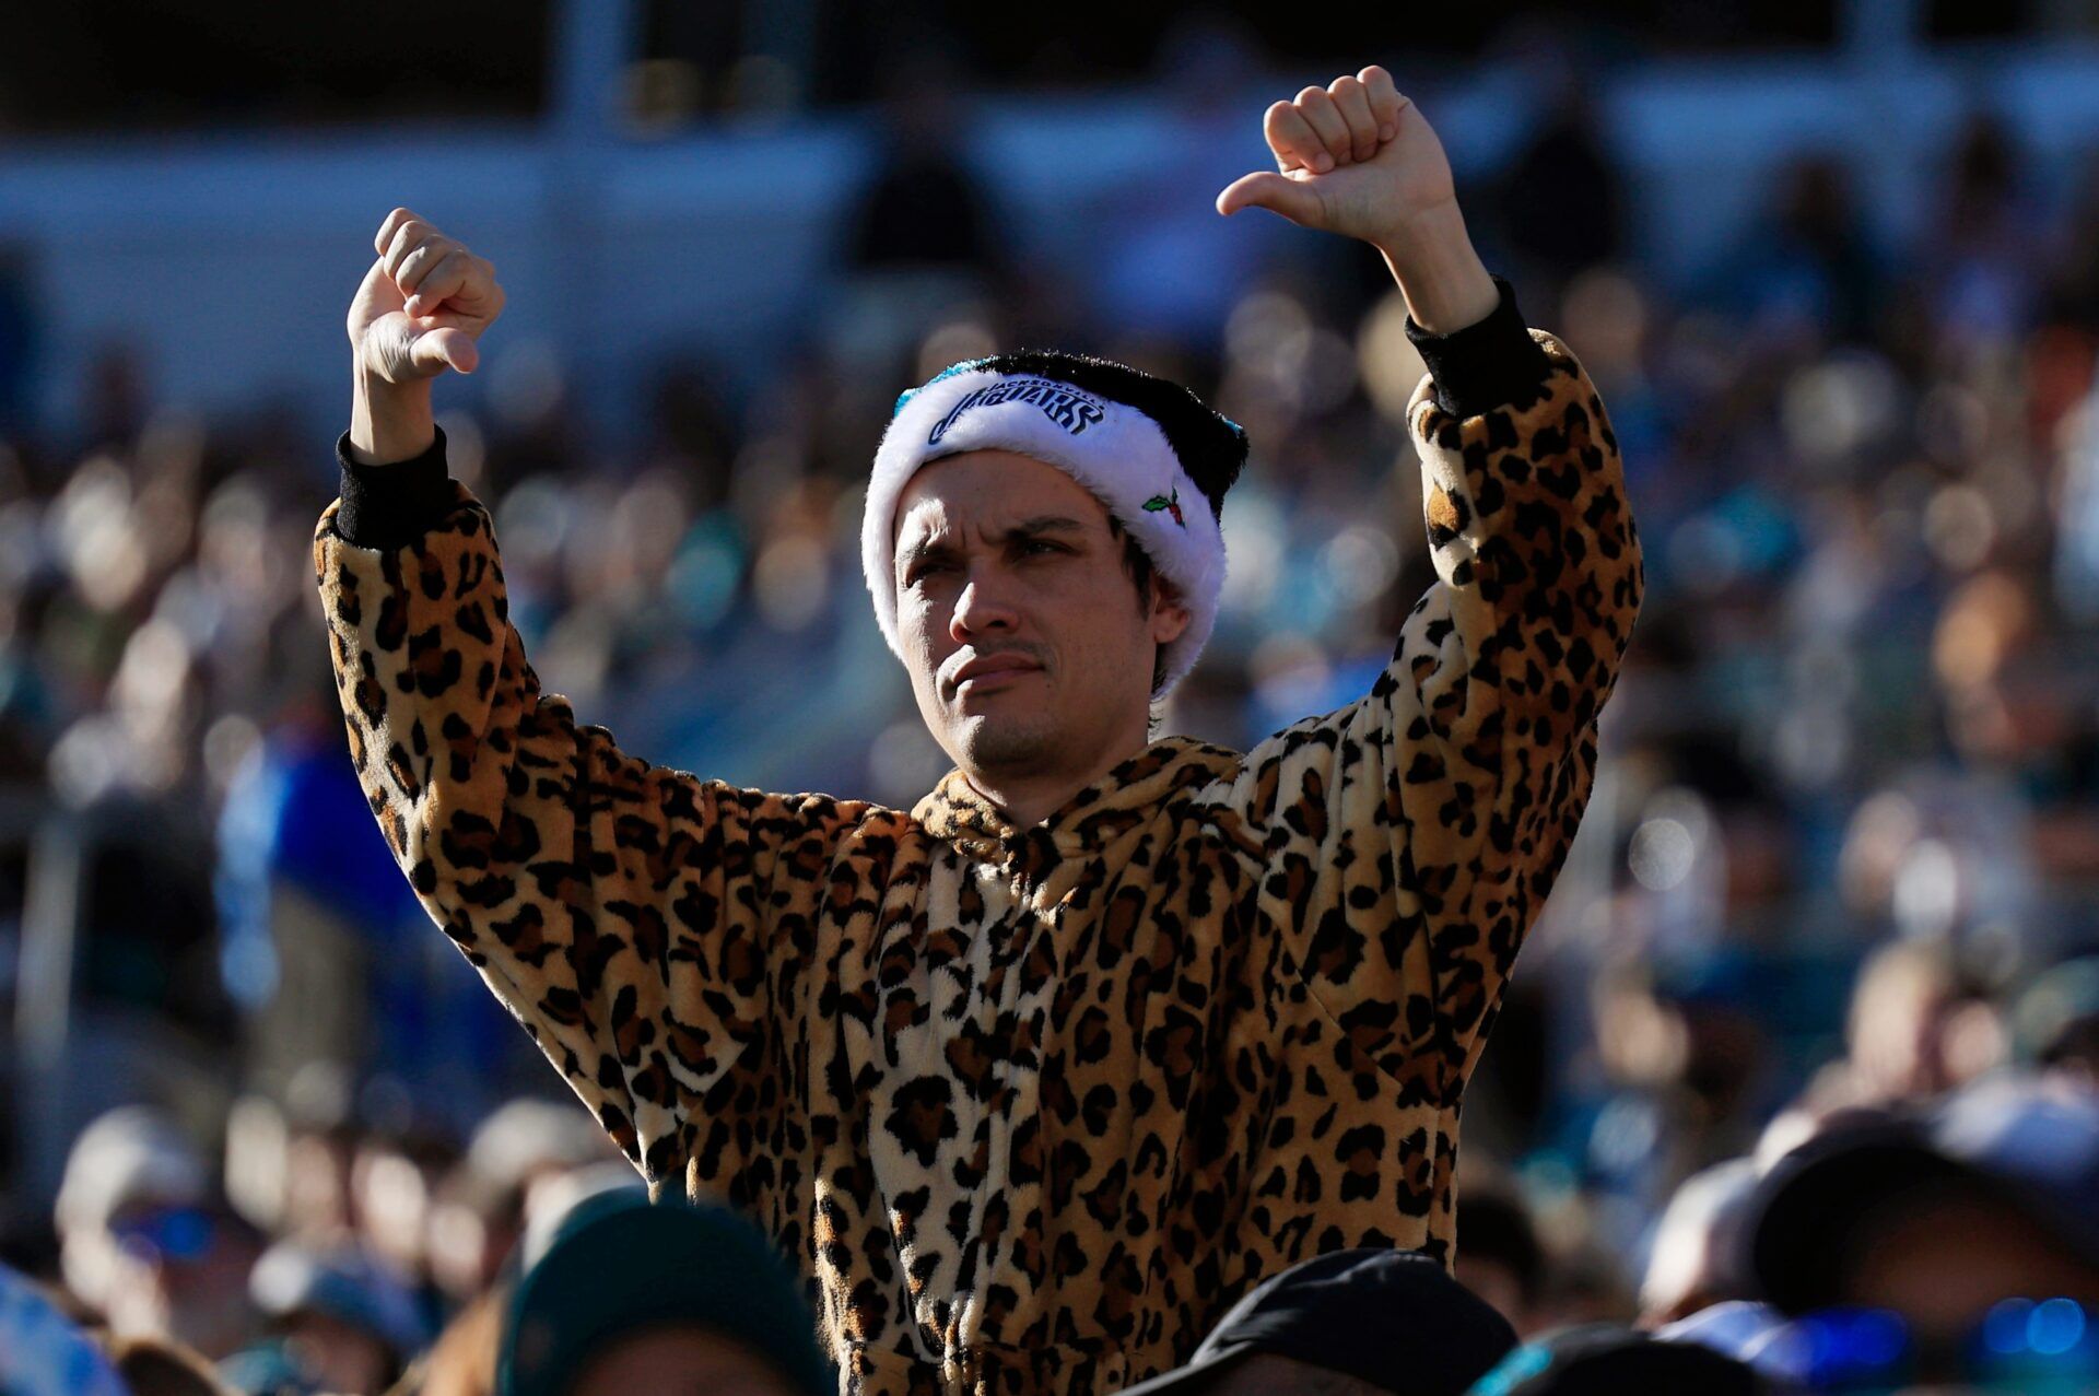
{"type": "Polygon", "coordinates": [[[1423,330],[1461,330],[1501,300],[1465,233],[1442,141],[1383,67],[1278,101],[1261,130],[1276,172],[1232,181],[1217,195],[1220,214],[1266,208],[1360,237],[1385,254],[1423,330]]]}

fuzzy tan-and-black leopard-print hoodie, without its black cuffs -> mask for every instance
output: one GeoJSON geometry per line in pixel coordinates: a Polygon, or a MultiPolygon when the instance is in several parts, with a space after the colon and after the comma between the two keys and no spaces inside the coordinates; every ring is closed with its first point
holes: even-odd
{"type": "Polygon", "coordinates": [[[1115,1392],[1320,1251],[1448,1260],[1459,1092],[1639,607],[1574,357],[1408,409],[1438,581],[1373,691],[1031,829],[651,766],[542,693],[487,510],[321,516],[351,754],[432,919],[653,1188],[800,1260],[844,1392],[1115,1392]]]}

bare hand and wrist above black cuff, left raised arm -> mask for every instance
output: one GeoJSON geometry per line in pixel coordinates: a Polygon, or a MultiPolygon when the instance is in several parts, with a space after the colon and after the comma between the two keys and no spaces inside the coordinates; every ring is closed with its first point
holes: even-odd
{"type": "Polygon", "coordinates": [[[445,369],[472,374],[481,332],[504,313],[495,269],[411,210],[386,214],[372,246],[378,260],[348,317],[357,388],[351,453],[367,464],[428,449],[430,380],[445,369]]]}

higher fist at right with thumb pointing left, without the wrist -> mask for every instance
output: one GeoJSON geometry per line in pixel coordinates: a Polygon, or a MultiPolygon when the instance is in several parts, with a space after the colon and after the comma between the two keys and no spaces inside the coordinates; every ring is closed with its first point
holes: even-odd
{"type": "Polygon", "coordinates": [[[1457,206],[1442,141],[1375,63],[1278,101],[1261,130],[1276,170],[1232,181],[1220,214],[1266,208],[1390,250],[1417,218],[1457,206]]]}

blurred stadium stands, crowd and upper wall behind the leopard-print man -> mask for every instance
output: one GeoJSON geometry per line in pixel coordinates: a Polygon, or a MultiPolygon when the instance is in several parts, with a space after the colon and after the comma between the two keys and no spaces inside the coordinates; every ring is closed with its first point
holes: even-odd
{"type": "MultiPolygon", "coordinates": [[[[414,1299],[359,1320],[399,1365],[533,1184],[609,1157],[344,752],[309,546],[390,208],[510,294],[437,401],[546,686],[661,764],[911,804],[947,762],[858,504],[896,393],[961,357],[1104,353],[1249,428],[1167,731],[1247,745],[1390,657],[1432,575],[1404,311],[1369,250],[1211,208],[1272,99],[1373,61],[1602,388],[1648,556],[1467,1096],[1501,1211],[1461,1226],[1513,1236],[1505,1306],[1690,1312],[1656,1245],[1685,1180],[2002,1073],[2089,1090],[2095,0],[80,0],[8,29],[0,1260],[57,1274],[67,1218],[143,1199],[160,1230],[113,1255],[204,1274],[128,1299],[65,1260],[86,1308],[160,1304],[222,1356],[319,1293],[264,1247],[355,1253],[355,1293],[414,1299]],[[151,1111],[84,1140],[115,1106],[151,1111]]],[[[1677,1262],[1698,1295],[1713,1268],[1677,1262]]]]}

